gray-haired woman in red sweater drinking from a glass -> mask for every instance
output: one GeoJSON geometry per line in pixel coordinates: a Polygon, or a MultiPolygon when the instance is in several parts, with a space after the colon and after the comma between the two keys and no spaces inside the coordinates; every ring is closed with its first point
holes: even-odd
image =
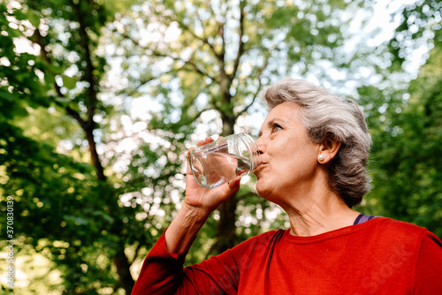
{"type": "Polygon", "coordinates": [[[237,177],[203,189],[187,167],[182,208],[133,294],[442,294],[442,242],[434,234],[352,209],[370,190],[370,134],[356,103],[297,79],[263,96],[270,113],[256,142],[256,191],[286,211],[290,229],[183,269],[202,224],[240,187],[237,177]]]}

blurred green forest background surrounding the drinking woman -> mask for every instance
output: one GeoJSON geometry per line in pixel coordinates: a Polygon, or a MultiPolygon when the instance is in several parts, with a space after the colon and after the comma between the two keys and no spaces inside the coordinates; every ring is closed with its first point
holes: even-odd
{"type": "MultiPolygon", "coordinates": [[[[442,237],[440,1],[0,0],[0,11],[2,293],[12,234],[16,293],[129,294],[179,210],[187,149],[256,135],[259,94],[285,76],[367,116],[374,188],[357,209],[442,237]]],[[[288,226],[254,181],[214,212],[187,263],[288,226]]]]}

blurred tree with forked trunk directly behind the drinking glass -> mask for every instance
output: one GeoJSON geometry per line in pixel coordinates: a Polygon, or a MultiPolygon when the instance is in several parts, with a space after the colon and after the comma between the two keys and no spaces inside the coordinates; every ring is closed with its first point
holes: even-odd
{"type": "MultiPolygon", "coordinates": [[[[342,15],[358,4],[141,2],[131,18],[117,17],[113,30],[120,41],[111,42],[120,44],[116,52],[129,70],[129,95],[153,96],[164,106],[152,114],[151,132],[184,132],[201,124],[207,135],[249,132],[239,122],[254,107],[263,108],[255,103],[263,86],[293,73],[324,75],[318,68],[331,66],[343,44],[342,15]]],[[[249,194],[251,187],[240,192],[249,194]]],[[[217,240],[210,253],[237,244],[239,201],[233,197],[215,214],[217,240]]]]}

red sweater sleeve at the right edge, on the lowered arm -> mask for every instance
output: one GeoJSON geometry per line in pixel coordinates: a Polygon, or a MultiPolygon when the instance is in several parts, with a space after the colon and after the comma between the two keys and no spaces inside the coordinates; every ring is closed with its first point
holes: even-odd
{"type": "Polygon", "coordinates": [[[442,294],[442,242],[430,231],[423,239],[415,265],[415,294],[442,294]]]}

